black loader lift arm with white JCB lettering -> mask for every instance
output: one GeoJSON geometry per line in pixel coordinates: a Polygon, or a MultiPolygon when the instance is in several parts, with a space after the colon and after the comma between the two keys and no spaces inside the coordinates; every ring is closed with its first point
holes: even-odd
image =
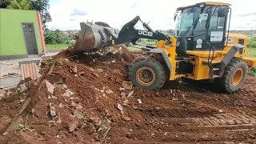
{"type": "Polygon", "coordinates": [[[104,42],[103,46],[119,45],[126,42],[132,42],[134,45],[136,45],[138,38],[155,39],[158,41],[167,40],[171,43],[170,39],[167,38],[165,34],[152,30],[150,26],[146,24],[146,22],[142,22],[142,25],[146,30],[135,29],[134,26],[138,23],[138,21],[142,22],[142,19],[139,16],[136,16],[130,22],[127,22],[124,26],[122,26],[122,29],[118,34],[118,38],[113,38],[104,42]]]}

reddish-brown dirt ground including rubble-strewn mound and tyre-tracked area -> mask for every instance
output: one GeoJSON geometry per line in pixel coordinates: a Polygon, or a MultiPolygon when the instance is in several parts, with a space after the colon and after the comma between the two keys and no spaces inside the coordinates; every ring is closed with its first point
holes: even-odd
{"type": "Polygon", "coordinates": [[[235,94],[186,79],[166,82],[158,91],[124,89],[126,69],[138,55],[123,49],[122,56],[94,54],[66,62],[59,59],[63,54],[54,58],[50,75],[53,60],[46,62],[37,85],[0,101],[1,133],[26,98],[32,98],[34,110],[32,115],[28,109],[22,121],[29,130],[0,136],[0,143],[256,142],[256,78],[248,76],[235,94]],[[53,95],[44,85],[38,88],[44,79],[59,84],[53,95]],[[69,90],[73,94],[66,96],[69,90]],[[56,116],[50,116],[49,103],[56,116]]]}

